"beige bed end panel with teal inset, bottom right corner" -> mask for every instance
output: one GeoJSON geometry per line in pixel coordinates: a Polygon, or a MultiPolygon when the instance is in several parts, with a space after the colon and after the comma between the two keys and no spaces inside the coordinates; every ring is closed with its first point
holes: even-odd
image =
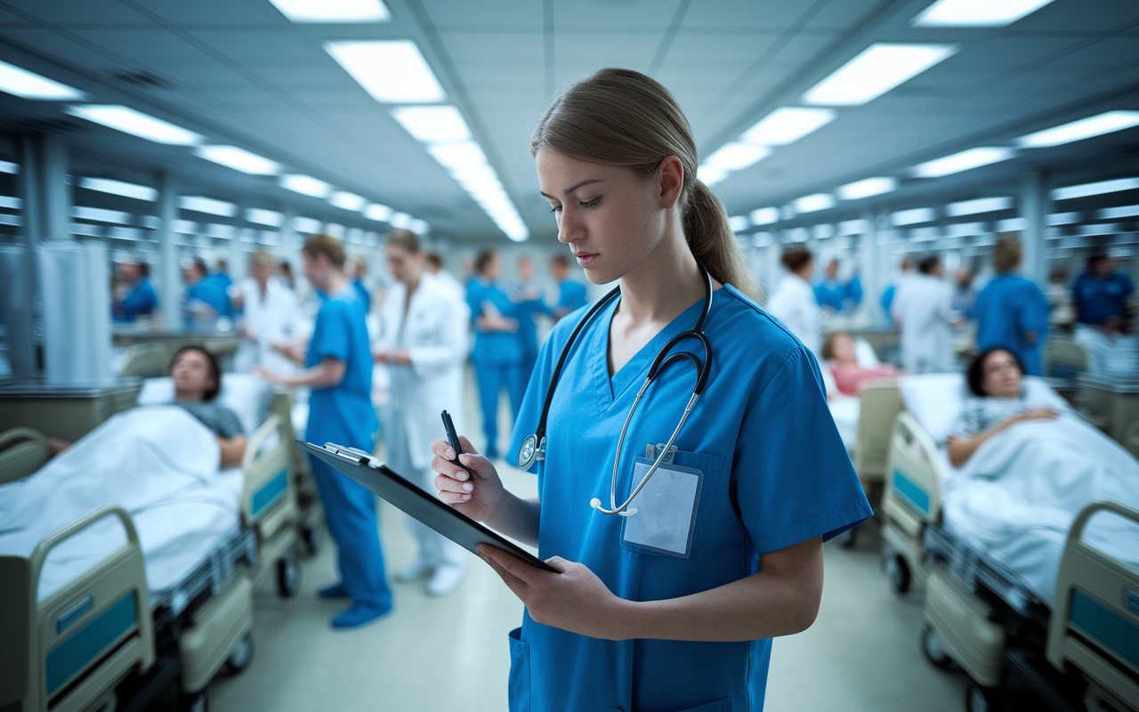
{"type": "Polygon", "coordinates": [[[1072,523],[1048,625],[1048,660],[1073,663],[1099,688],[1139,709],[1139,571],[1082,540],[1092,515],[1112,512],[1139,525],[1139,510],[1092,502],[1072,523]]]}

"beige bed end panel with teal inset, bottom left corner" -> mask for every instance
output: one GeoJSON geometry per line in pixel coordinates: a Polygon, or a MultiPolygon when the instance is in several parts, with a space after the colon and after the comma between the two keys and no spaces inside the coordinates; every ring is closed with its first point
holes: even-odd
{"type": "Polygon", "coordinates": [[[43,710],[49,703],[81,709],[136,666],[145,672],[154,664],[142,548],[121,507],[104,505],[48,534],[26,559],[0,558],[0,572],[18,574],[0,583],[0,630],[22,628],[14,639],[21,645],[13,645],[11,654],[25,661],[17,669],[0,666],[0,706],[18,702],[24,710],[43,710]],[[40,573],[51,550],[108,516],[122,522],[126,543],[38,600],[40,573]]]}

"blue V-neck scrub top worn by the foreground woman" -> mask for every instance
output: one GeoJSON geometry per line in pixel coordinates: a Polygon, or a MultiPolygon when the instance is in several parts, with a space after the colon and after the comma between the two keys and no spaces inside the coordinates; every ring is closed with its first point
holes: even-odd
{"type": "MultiPolygon", "coordinates": [[[[603,309],[566,361],[548,420],[547,459],[533,467],[542,502],[540,556],[588,565],[625,599],[674,598],[730,583],[759,571],[761,554],[834,537],[872,514],[835,428],[814,357],[731,286],[714,294],[705,324],[711,375],[675,443],[675,464],[704,475],[690,556],[625,543],[625,517],[589,506],[593,497],[608,506],[617,434],[636,393],[661,346],[691,328],[702,305],[685,311],[612,378],[606,353],[616,303],[603,309]]],[[[584,316],[559,321],[542,346],[509,457],[538,427],[554,363],[584,316]]],[[[649,386],[622,452],[618,501],[633,486],[634,458],[644,457],[646,444],[667,441],[695,380],[685,361],[649,386]]],[[[732,710],[760,710],[771,654],[770,639],[609,641],[528,615],[510,645],[510,709],[533,712],[688,710],[724,699],[732,710]]]]}

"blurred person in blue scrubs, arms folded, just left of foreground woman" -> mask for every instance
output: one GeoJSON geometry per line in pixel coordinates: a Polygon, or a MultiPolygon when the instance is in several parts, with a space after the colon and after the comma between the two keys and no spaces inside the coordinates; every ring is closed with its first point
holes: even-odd
{"type": "Polygon", "coordinates": [[[503,388],[510,395],[514,416],[522,406],[522,343],[518,341],[518,320],[515,305],[494,280],[501,275],[498,253],[484,249],[475,259],[475,277],[467,285],[467,306],[475,328],[475,347],[470,360],[478,380],[478,401],[483,411],[483,434],[486,449],[483,455],[494,459],[498,450],[498,399],[503,388]]]}

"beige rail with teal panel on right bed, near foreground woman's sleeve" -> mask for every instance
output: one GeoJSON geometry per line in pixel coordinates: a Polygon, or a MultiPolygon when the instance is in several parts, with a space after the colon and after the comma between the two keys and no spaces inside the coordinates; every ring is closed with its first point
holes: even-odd
{"type": "Polygon", "coordinates": [[[941,516],[937,445],[909,411],[894,418],[886,456],[883,509],[908,533],[917,535],[923,523],[941,516]],[[909,531],[909,530],[913,531],[909,531]]]}

